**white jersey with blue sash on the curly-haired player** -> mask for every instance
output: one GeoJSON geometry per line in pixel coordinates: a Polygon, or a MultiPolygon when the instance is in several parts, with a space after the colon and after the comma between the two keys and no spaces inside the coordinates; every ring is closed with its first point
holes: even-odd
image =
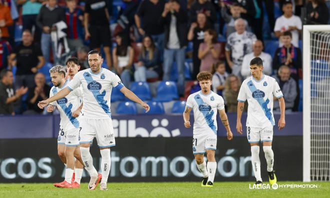
{"type": "Polygon", "coordinates": [[[217,110],[224,109],[223,98],[211,91],[204,95],[197,91],[188,96],[186,106],[193,109],[193,135],[216,134],[216,114],[217,110]]]}

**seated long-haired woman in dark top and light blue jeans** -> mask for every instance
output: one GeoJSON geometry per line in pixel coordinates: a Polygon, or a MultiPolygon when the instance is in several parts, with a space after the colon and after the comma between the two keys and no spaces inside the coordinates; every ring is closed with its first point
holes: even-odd
{"type": "Polygon", "coordinates": [[[159,52],[151,36],[144,36],[142,50],[135,64],[135,81],[146,81],[148,78],[157,78],[160,74],[159,52]]]}

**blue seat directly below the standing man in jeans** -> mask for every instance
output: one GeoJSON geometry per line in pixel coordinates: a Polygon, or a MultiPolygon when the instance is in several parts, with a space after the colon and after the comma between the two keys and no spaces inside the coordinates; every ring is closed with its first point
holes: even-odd
{"type": "Polygon", "coordinates": [[[157,87],[155,101],[170,101],[178,98],[176,84],[173,81],[161,81],[157,87]]]}

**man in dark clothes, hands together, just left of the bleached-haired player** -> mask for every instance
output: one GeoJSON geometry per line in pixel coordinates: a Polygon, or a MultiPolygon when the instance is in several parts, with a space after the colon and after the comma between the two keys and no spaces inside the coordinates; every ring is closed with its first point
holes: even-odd
{"type": "Polygon", "coordinates": [[[38,107],[38,102],[48,99],[50,86],[46,84],[46,79],[42,73],[34,76],[35,87],[30,89],[27,94],[27,110],[23,114],[39,114],[42,109],[38,107]]]}

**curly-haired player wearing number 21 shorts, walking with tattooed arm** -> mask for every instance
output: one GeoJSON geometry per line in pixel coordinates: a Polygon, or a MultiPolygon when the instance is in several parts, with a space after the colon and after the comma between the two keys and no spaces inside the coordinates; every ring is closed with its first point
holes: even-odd
{"type": "Polygon", "coordinates": [[[224,111],[223,98],[211,91],[212,74],[201,71],[197,74],[197,80],[201,90],[188,96],[183,112],[184,126],[190,127],[190,111],[193,109],[193,139],[192,153],[195,156],[197,167],[203,174],[201,186],[213,186],[216,172],[216,113],[220,114],[221,121],[227,130],[227,138],[232,139],[227,115],[224,111]],[[207,155],[207,168],[204,154],[207,155]]]}

